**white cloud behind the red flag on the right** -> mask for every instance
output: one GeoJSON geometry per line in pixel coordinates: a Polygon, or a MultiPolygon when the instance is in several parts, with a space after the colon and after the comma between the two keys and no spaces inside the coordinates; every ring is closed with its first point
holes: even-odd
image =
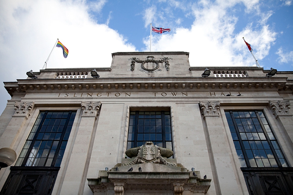
{"type": "MultiPolygon", "coordinates": [[[[272,12],[257,13],[261,20],[257,28],[249,23],[240,33],[235,34],[238,18],[228,12],[237,3],[244,4],[246,11],[257,10],[258,0],[216,1],[201,0],[194,3],[192,12],[195,20],[191,28],[174,29],[173,34],[152,37],[152,51],[188,51],[191,66],[255,66],[242,37],[249,40],[258,60],[269,54],[276,33],[266,24],[272,12]]],[[[148,51],[149,40],[144,40],[148,51]]]]}

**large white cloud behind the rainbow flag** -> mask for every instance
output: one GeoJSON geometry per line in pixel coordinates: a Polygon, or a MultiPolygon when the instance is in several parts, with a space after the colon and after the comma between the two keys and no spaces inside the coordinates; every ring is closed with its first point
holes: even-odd
{"type": "MultiPolygon", "coordinates": [[[[110,67],[111,53],[136,50],[118,32],[92,20],[80,0],[0,0],[0,26],[0,71],[6,73],[0,83],[42,69],[57,38],[69,54],[64,59],[62,49],[54,48],[47,68],[110,67]]],[[[0,93],[1,102],[10,99],[3,86],[0,93]]]]}

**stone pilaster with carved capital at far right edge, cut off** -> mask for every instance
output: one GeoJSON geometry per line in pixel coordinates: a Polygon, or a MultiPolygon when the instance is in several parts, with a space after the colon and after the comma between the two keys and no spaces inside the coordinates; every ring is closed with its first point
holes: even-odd
{"type": "Polygon", "coordinates": [[[289,113],[290,101],[269,101],[272,114],[281,125],[281,131],[293,142],[293,115],[289,113]]]}

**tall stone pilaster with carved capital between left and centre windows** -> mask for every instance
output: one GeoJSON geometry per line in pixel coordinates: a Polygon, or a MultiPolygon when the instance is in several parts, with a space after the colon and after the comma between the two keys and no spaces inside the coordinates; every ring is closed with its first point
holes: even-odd
{"type": "MultiPolygon", "coordinates": [[[[83,101],[81,104],[83,110],[80,124],[77,129],[77,135],[73,138],[73,149],[60,194],[79,194],[84,190],[84,176],[87,175],[87,163],[89,163],[89,154],[91,153],[90,144],[92,138],[95,137],[94,124],[100,106],[100,101],[83,101]]],[[[72,136],[70,135],[70,137],[72,136]]]]}

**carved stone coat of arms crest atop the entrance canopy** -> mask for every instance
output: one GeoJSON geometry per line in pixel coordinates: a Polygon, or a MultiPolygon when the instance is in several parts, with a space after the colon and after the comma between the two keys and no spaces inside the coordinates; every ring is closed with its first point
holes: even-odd
{"type": "Polygon", "coordinates": [[[160,163],[165,164],[169,166],[177,166],[176,164],[169,163],[167,160],[165,160],[161,154],[166,157],[170,157],[173,155],[173,152],[167,148],[161,148],[157,145],[154,145],[153,142],[147,141],[145,145],[142,145],[141,147],[137,148],[131,148],[126,151],[126,155],[128,157],[134,157],[133,160],[131,160],[129,163],[124,163],[122,166],[128,166],[138,163],[160,163]]]}

